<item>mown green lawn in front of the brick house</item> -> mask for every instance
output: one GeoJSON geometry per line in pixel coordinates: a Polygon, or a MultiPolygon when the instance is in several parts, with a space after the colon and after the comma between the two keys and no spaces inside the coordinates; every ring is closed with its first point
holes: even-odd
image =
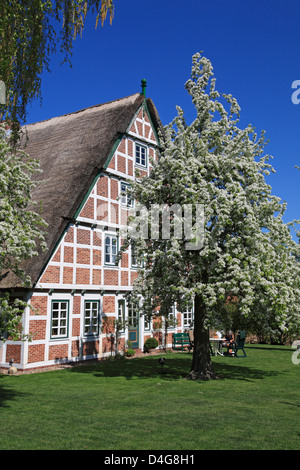
{"type": "Polygon", "coordinates": [[[214,357],[219,380],[185,379],[191,354],[0,375],[0,449],[300,449],[300,364],[289,347],[214,357]]]}

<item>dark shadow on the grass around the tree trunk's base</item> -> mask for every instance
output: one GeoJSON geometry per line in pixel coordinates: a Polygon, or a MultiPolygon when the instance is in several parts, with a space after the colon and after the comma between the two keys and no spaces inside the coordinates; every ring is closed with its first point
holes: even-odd
{"type": "MultiPolygon", "coordinates": [[[[185,379],[191,369],[192,355],[175,353],[163,356],[148,356],[136,359],[107,360],[89,366],[77,366],[69,369],[70,372],[93,374],[95,377],[125,377],[128,380],[134,378],[159,378],[160,380],[185,379]],[[165,358],[165,365],[158,362],[159,357],[165,358]]],[[[266,371],[248,367],[244,363],[214,363],[214,371],[218,379],[231,380],[261,380],[265,377],[278,375],[277,371],[266,371]]],[[[201,381],[203,382],[203,381],[201,381]]]]}

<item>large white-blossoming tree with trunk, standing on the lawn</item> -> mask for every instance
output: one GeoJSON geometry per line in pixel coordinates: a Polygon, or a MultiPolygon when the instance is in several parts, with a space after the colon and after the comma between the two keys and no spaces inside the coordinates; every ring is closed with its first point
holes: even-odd
{"type": "Polygon", "coordinates": [[[153,217],[146,217],[149,236],[144,228],[129,230],[124,247],[134,243],[142,261],[130,297],[145,315],[159,309],[167,316],[175,303],[180,311],[193,303],[195,346],[188,378],[209,379],[215,377],[209,327],[229,298],[237,300],[248,324],[256,322],[264,332],[275,330],[274,325],[299,331],[299,245],[283,221],[285,204],[266,182],[274,170],[264,155],[264,132],[258,136],[252,125],[238,127],[236,99],[217,91],[212,64],[199,53],[193,56],[186,89],[194,121],[187,124],[177,108],[164,129],[159,161],[133,187],[148,215],[153,207],[169,208],[170,236],[161,236],[166,213],[160,213],[159,236],[151,236],[153,217]],[[181,238],[174,236],[175,224],[184,226],[185,218],[174,207],[192,208],[189,240],[185,231],[181,238]]]}

